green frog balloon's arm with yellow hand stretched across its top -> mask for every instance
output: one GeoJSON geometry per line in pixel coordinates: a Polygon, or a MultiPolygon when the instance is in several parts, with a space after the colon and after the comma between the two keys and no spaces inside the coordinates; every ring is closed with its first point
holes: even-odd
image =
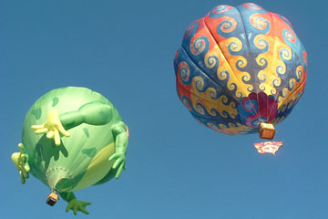
{"type": "Polygon", "coordinates": [[[90,125],[105,125],[112,117],[112,108],[108,104],[99,101],[89,102],[77,111],[70,111],[59,116],[58,110],[51,110],[46,122],[42,125],[34,125],[31,128],[36,134],[47,132],[46,137],[55,138],[57,146],[60,145],[59,132],[69,137],[67,130],[77,127],[82,123],[90,125]]]}

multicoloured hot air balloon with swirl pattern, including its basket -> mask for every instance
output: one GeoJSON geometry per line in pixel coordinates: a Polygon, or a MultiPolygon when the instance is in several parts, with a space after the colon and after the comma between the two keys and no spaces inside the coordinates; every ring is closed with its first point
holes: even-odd
{"type": "Polygon", "coordinates": [[[273,139],[302,97],[307,53],[284,16],[217,5],[186,28],[174,68],[179,99],[201,124],[273,139]]]}

